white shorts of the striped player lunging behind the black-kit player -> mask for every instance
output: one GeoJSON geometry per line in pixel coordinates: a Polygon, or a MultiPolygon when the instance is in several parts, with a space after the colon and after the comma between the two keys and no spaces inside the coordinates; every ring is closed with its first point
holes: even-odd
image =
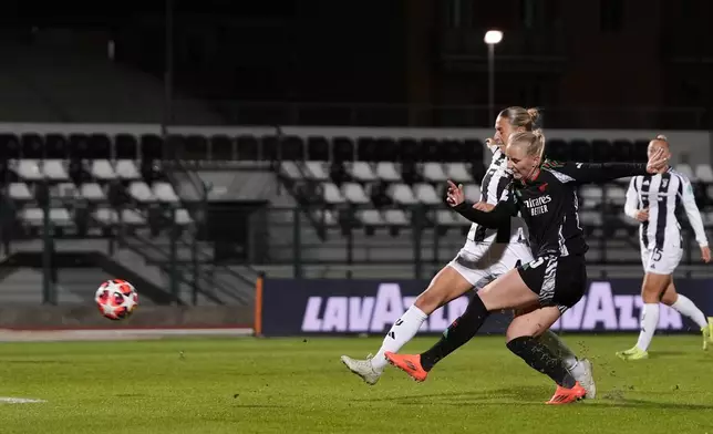
{"type": "Polygon", "coordinates": [[[476,289],[482,289],[498,276],[517,267],[517,262],[533,261],[530,248],[525,242],[475,244],[468,240],[448,264],[476,289]]]}

